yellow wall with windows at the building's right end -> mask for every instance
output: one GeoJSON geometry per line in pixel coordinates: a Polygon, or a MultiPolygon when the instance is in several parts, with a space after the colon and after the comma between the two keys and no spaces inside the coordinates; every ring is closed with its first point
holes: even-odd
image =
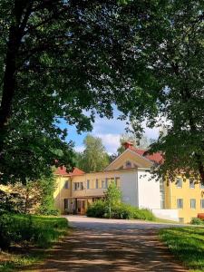
{"type": "MultiPolygon", "coordinates": [[[[170,197],[170,209],[178,209],[177,199],[183,199],[183,208],[178,210],[179,218],[180,220],[183,219],[184,223],[189,223],[192,218],[197,218],[198,213],[204,213],[204,209],[200,207],[200,199],[204,197],[204,189],[200,189],[198,182],[195,182],[194,189],[189,188],[189,179],[182,179],[182,188],[177,188],[176,182],[170,182],[168,193],[170,197]],[[196,209],[190,208],[190,199],[196,199],[196,209]]],[[[168,200],[166,205],[168,205],[168,200]]]]}

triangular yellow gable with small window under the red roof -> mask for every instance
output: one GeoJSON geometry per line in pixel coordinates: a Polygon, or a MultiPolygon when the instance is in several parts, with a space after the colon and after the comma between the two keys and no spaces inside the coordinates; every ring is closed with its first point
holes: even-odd
{"type": "Polygon", "coordinates": [[[112,161],[112,163],[105,168],[105,170],[120,170],[130,168],[147,168],[152,166],[151,160],[142,157],[130,149],[127,149],[121,155],[112,161]]]}

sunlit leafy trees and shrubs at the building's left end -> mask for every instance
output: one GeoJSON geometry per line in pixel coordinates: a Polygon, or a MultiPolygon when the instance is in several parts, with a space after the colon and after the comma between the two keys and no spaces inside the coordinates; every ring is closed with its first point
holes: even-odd
{"type": "Polygon", "coordinates": [[[30,180],[26,184],[8,184],[0,189],[0,211],[57,215],[59,211],[54,208],[54,186],[53,175],[42,177],[41,180],[30,180]]]}

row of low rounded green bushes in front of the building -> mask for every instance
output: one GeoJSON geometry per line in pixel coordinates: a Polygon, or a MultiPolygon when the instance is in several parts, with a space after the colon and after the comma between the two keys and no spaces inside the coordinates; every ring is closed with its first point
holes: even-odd
{"type": "MultiPolygon", "coordinates": [[[[108,205],[105,200],[97,200],[92,203],[87,209],[87,216],[92,218],[110,218],[108,205]]],[[[112,207],[112,219],[155,219],[151,210],[138,209],[124,203],[118,203],[112,207]]]]}

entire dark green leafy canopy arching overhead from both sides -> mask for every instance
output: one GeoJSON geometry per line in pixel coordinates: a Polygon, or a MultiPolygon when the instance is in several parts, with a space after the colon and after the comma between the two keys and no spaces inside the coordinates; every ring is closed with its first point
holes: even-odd
{"type": "Polygon", "coordinates": [[[73,166],[61,119],[91,130],[112,103],[134,121],[166,124],[151,145],[159,175],[204,182],[203,0],[2,0],[0,180],[73,166]],[[87,116],[85,112],[91,112],[87,116]]]}

